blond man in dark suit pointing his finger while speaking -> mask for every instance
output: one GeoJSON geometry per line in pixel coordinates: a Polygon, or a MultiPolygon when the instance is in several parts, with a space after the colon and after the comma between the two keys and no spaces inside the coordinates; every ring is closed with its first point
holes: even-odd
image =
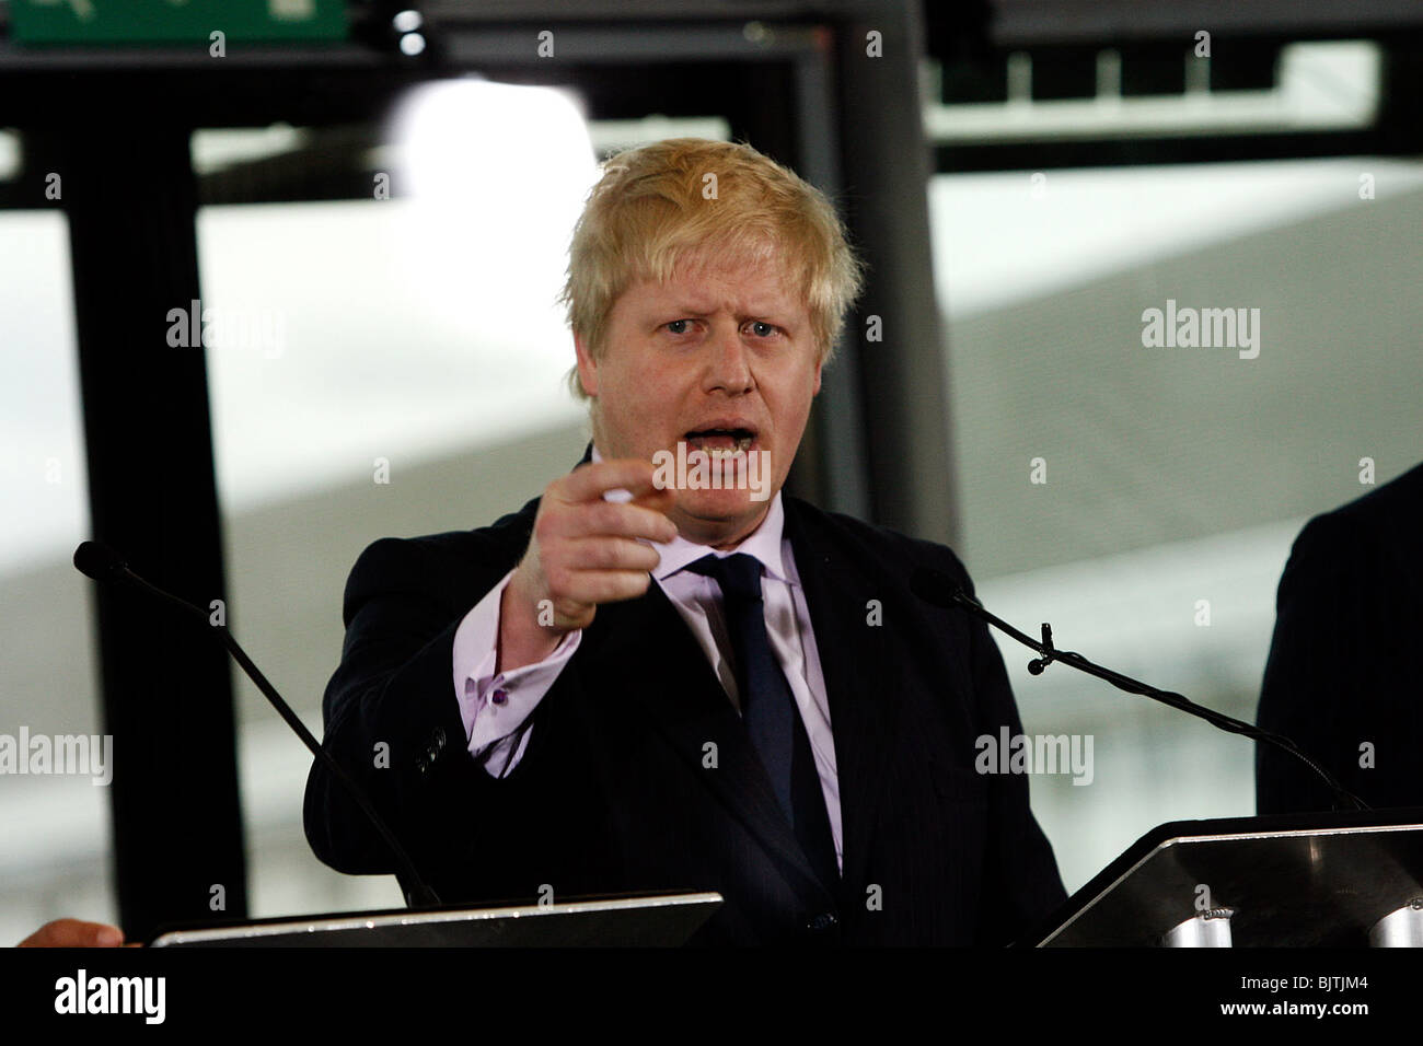
{"type": "MultiPolygon", "coordinates": [[[[909,591],[965,568],[780,494],[859,290],[831,204],[669,139],[603,165],[569,255],[583,461],[491,527],[361,554],[324,744],[445,902],[719,891],[693,944],[1036,925],[1064,891],[1027,780],[973,768],[1020,733],[1002,657],[909,591]],[[659,477],[677,453],[706,471],[659,477]]],[[[394,871],[320,764],[305,824],[333,868],[394,871]]]]}

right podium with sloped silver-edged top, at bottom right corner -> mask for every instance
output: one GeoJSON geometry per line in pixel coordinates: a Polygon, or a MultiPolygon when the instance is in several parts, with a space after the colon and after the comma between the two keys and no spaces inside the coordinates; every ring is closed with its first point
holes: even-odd
{"type": "Polygon", "coordinates": [[[1019,945],[1423,946],[1423,807],[1163,824],[1019,945]]]}

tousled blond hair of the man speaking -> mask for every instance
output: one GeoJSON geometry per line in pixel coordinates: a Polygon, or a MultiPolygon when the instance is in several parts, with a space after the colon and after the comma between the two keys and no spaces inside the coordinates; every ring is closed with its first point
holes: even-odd
{"type": "MultiPolygon", "coordinates": [[[[696,256],[719,266],[783,266],[810,312],[820,361],[830,361],[864,266],[820,189],[744,142],[706,138],[625,149],[602,171],[573,228],[558,297],[595,360],[608,349],[618,297],[640,280],[666,283],[696,256]]],[[[588,398],[576,366],[568,386],[588,398]]]]}

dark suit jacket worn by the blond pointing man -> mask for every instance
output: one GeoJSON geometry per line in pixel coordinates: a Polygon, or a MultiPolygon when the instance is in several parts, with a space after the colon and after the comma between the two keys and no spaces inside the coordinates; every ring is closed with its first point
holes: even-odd
{"type": "MultiPolygon", "coordinates": [[[[454,632],[522,555],[531,501],[492,527],[381,539],[346,588],[326,746],[374,796],[445,902],[714,889],[696,944],[1003,944],[1064,899],[1022,776],[980,776],[975,739],[1020,731],[986,628],[909,592],[948,548],[784,498],[838,761],[844,878],[822,887],[746,729],[656,583],[598,608],[534,713],[528,750],[491,778],[464,743],[454,632]],[[871,625],[878,601],[882,623],[871,625]],[[390,746],[390,768],[373,750],[390,746]],[[706,766],[707,743],[714,767],[706,766]]],[[[316,764],[306,835],[344,872],[390,872],[316,764]]],[[[408,888],[408,884],[404,884],[408,888]]]]}

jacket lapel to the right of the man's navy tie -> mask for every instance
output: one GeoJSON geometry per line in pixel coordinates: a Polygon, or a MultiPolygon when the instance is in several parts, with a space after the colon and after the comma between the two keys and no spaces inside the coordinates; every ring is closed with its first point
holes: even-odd
{"type": "Polygon", "coordinates": [[[794,498],[784,498],[783,504],[785,537],[795,551],[795,569],[815,630],[835,737],[842,881],[858,884],[902,707],[894,666],[885,655],[884,625],[868,623],[869,601],[882,605],[887,592],[884,583],[877,585],[841,545],[830,541],[814,509],[794,498]]]}

